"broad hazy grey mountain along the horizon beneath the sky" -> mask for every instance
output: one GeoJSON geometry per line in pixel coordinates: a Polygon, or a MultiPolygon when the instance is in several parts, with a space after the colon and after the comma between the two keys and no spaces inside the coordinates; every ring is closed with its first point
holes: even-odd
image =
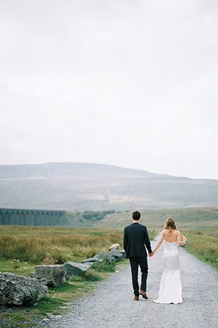
{"type": "Polygon", "coordinates": [[[218,180],[112,165],[0,165],[0,207],[102,211],[218,206],[218,180]]]}

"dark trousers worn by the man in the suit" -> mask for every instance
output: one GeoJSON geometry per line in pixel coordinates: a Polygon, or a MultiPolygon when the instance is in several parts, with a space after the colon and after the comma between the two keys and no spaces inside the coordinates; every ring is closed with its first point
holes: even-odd
{"type": "Polygon", "coordinates": [[[130,257],[129,258],[131,264],[131,272],[132,272],[132,282],[133,282],[133,290],[135,296],[139,295],[139,286],[138,286],[138,266],[141,269],[141,286],[140,289],[146,291],[147,288],[147,257],[130,257]]]}

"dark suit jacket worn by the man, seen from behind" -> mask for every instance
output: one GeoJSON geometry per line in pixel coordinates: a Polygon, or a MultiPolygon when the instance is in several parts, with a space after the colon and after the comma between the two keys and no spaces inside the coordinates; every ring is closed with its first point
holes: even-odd
{"type": "Polygon", "coordinates": [[[147,257],[145,245],[149,253],[152,252],[147,228],[140,223],[132,223],[124,228],[123,248],[126,257],[147,257]]]}

